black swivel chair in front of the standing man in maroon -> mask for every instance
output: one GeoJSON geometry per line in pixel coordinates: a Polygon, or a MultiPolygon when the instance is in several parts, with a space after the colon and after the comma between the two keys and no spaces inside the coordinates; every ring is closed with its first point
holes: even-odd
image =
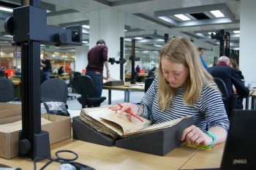
{"type": "Polygon", "coordinates": [[[75,92],[81,95],[78,97],[78,101],[80,104],[82,104],[82,108],[99,107],[100,104],[106,99],[106,97],[89,96],[94,94],[95,86],[94,82],[91,80],[91,77],[87,75],[75,77],[75,92]]]}

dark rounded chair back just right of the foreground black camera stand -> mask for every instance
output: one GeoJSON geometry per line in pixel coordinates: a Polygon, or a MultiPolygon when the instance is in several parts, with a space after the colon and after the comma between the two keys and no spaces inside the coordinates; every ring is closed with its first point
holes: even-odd
{"type": "Polygon", "coordinates": [[[60,101],[67,104],[67,84],[64,80],[48,79],[41,85],[41,101],[60,101]]]}

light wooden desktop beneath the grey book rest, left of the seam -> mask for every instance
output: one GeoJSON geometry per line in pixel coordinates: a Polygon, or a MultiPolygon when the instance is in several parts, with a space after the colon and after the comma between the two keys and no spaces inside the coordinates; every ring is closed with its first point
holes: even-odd
{"type": "MultiPolygon", "coordinates": [[[[52,158],[56,158],[58,150],[72,150],[78,153],[78,162],[100,170],[174,170],[180,169],[193,155],[197,149],[186,147],[184,144],[172,150],[165,156],[151,155],[143,152],[125,150],[118,147],[105,147],[75,139],[66,139],[62,142],[50,145],[52,158]]],[[[30,158],[12,158],[6,160],[0,158],[0,162],[21,169],[33,169],[30,158]]],[[[37,163],[37,169],[41,168],[47,160],[37,163]]],[[[200,165],[198,165],[200,166],[200,165]]],[[[59,163],[51,163],[46,169],[59,169],[59,163]]]]}

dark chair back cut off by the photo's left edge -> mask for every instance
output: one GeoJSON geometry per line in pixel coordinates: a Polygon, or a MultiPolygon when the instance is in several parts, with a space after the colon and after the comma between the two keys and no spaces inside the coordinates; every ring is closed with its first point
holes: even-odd
{"type": "Polygon", "coordinates": [[[15,98],[15,88],[12,80],[0,79],[0,102],[17,101],[15,98]]]}

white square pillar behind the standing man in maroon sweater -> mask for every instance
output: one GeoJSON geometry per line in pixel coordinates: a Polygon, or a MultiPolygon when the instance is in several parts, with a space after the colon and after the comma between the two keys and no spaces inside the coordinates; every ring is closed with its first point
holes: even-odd
{"type": "MultiPolygon", "coordinates": [[[[120,37],[124,37],[124,13],[113,9],[91,11],[90,16],[90,44],[89,48],[94,47],[99,39],[104,39],[108,46],[108,58],[119,60],[120,56],[120,37]]],[[[120,65],[109,63],[110,77],[120,80],[120,65]]],[[[103,75],[106,75],[104,66],[103,75]]],[[[102,96],[108,97],[108,90],[102,91],[102,96]]],[[[124,98],[124,91],[112,90],[112,101],[124,98]]],[[[108,99],[108,98],[107,98],[108,99]]]]}

